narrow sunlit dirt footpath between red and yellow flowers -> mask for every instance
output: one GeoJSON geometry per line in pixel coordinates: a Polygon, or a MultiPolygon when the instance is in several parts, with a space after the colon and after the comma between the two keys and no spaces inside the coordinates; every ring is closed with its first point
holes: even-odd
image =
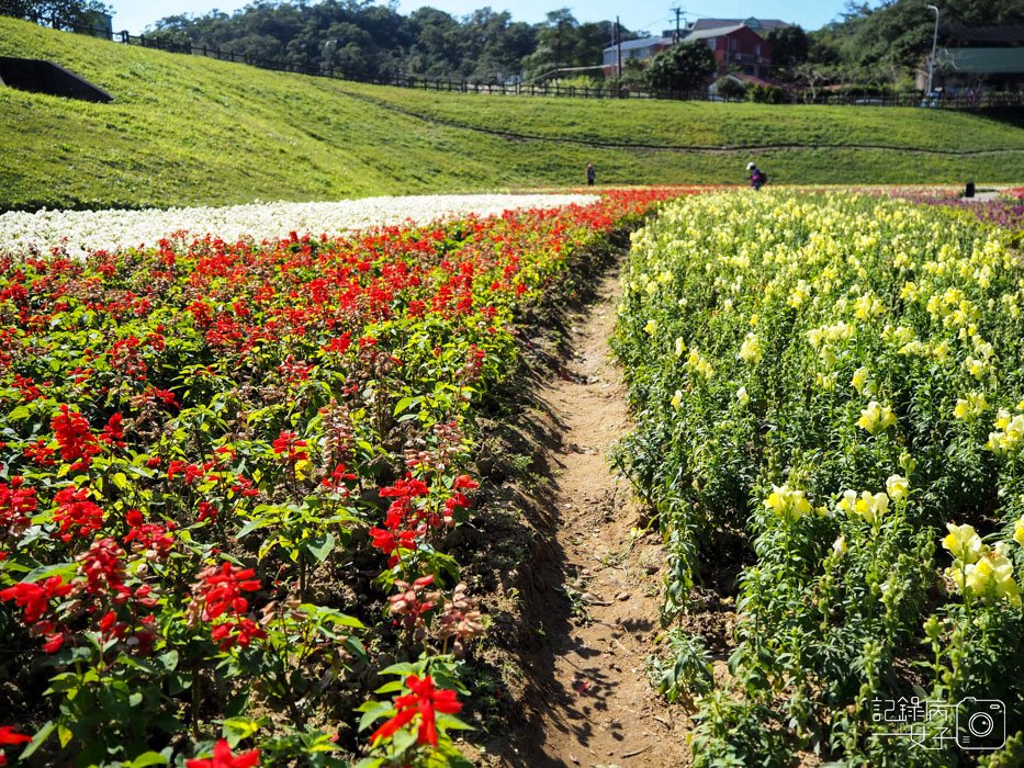
{"type": "Polygon", "coordinates": [[[524,658],[532,688],[528,724],[514,737],[519,752],[510,764],[689,761],[689,721],[646,678],[661,634],[661,539],[637,530],[641,510],[609,463],[612,443],[629,429],[622,377],[608,360],[618,295],[612,270],[597,302],[570,318],[570,358],[538,393],[559,426],[547,456],[554,498],[531,578],[528,619],[538,640],[524,658]]]}

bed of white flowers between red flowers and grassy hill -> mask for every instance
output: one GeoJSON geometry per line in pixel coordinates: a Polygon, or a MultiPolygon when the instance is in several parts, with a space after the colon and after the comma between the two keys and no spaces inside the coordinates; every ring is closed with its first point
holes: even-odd
{"type": "Polygon", "coordinates": [[[257,203],[220,208],[143,211],[40,211],[0,214],[0,253],[23,256],[64,247],[69,256],[154,245],[173,233],[214,235],[227,241],[259,241],[300,235],[339,235],[469,214],[487,216],[515,208],[554,208],[595,202],[586,194],[472,194],[367,197],[337,203],[257,203]]]}

